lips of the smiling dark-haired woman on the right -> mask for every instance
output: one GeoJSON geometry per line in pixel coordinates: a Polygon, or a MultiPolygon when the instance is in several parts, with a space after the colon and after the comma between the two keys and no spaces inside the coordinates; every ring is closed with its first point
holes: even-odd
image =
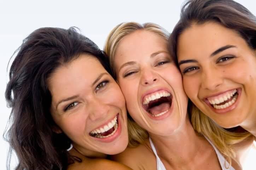
{"type": "MultiPolygon", "coordinates": [[[[235,90],[235,89],[232,89],[232,90],[235,90]]],[[[206,105],[208,105],[212,111],[214,111],[215,113],[219,113],[219,114],[224,114],[224,113],[227,113],[227,112],[230,112],[232,111],[233,109],[235,109],[240,101],[240,96],[242,94],[242,89],[241,88],[236,88],[237,90],[237,93],[238,93],[238,96],[237,96],[237,100],[233,103],[233,105],[229,106],[229,107],[226,107],[224,109],[215,109],[213,106],[211,106],[211,103],[208,101],[208,97],[213,97],[213,96],[217,96],[217,95],[220,95],[220,94],[223,94],[223,93],[226,93],[228,91],[231,91],[231,90],[227,90],[225,92],[221,92],[221,93],[218,93],[218,94],[215,94],[215,95],[211,95],[211,96],[208,96],[208,97],[205,97],[204,98],[204,102],[206,103],[206,105]]]]}

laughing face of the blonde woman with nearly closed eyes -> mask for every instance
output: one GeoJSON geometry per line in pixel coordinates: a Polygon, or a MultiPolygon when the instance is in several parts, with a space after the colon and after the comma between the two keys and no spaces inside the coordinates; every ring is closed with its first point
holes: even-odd
{"type": "Polygon", "coordinates": [[[166,40],[139,30],[121,40],[114,63],[129,114],[158,135],[177,130],[187,112],[181,74],[167,51],[166,40]]]}

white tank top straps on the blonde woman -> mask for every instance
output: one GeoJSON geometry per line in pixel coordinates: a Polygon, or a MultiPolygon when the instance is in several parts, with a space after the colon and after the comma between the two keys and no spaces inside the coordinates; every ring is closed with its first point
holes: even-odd
{"type": "MultiPolygon", "coordinates": [[[[155,148],[151,138],[149,138],[149,142],[150,142],[151,148],[152,148],[152,150],[153,150],[153,152],[156,156],[157,170],[166,170],[165,167],[164,167],[164,164],[162,163],[161,159],[157,155],[156,148],[155,148]]],[[[219,159],[219,162],[220,162],[220,165],[221,165],[221,169],[222,170],[235,170],[232,166],[230,166],[229,168],[226,168],[225,164],[227,164],[227,166],[228,166],[228,162],[226,161],[226,159],[221,155],[220,151],[217,150],[217,148],[213,145],[213,143],[211,143],[210,141],[209,141],[209,143],[213,146],[213,148],[214,148],[214,150],[215,150],[215,152],[218,156],[218,159],[219,159]]]]}

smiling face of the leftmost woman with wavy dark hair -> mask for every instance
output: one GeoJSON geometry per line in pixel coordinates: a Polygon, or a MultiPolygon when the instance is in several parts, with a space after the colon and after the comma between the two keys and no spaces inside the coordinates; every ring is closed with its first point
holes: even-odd
{"type": "Polygon", "coordinates": [[[51,114],[83,155],[116,154],[128,144],[125,100],[98,59],[80,55],[49,80],[51,114]]]}

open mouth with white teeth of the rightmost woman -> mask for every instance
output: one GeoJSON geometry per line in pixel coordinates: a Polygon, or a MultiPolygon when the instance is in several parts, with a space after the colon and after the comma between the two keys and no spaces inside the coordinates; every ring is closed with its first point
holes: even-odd
{"type": "Polygon", "coordinates": [[[238,89],[234,89],[217,97],[208,97],[207,100],[214,109],[220,110],[233,106],[237,101],[238,95],[238,89]]]}

